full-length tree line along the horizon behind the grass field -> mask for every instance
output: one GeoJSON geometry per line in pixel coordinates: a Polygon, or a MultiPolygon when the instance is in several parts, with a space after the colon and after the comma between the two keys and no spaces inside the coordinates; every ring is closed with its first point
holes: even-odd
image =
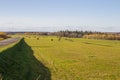
{"type": "MultiPolygon", "coordinates": [[[[15,33],[16,34],[16,33],[15,33]]],[[[44,35],[44,36],[58,36],[68,38],[87,38],[87,39],[106,39],[106,40],[120,40],[120,32],[96,32],[96,31],[58,31],[58,32],[22,32],[19,34],[26,35],[44,35]]]]}

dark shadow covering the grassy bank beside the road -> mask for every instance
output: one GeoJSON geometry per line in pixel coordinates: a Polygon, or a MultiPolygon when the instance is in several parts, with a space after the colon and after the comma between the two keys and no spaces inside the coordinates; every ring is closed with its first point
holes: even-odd
{"type": "Polygon", "coordinates": [[[24,39],[0,53],[0,74],[2,80],[51,80],[50,70],[34,57],[24,39]]]}

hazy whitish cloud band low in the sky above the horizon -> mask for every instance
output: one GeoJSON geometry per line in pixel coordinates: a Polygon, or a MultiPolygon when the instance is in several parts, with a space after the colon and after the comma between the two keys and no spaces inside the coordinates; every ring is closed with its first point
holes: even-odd
{"type": "Polygon", "coordinates": [[[86,17],[0,17],[0,31],[120,31],[118,22],[109,22],[86,17]]]}

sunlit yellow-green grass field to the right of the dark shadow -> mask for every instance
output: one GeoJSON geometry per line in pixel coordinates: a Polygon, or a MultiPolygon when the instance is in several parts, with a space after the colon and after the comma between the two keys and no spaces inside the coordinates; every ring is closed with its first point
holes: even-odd
{"type": "Polygon", "coordinates": [[[52,80],[120,79],[120,41],[72,40],[26,38],[36,58],[49,67],[52,80]]]}

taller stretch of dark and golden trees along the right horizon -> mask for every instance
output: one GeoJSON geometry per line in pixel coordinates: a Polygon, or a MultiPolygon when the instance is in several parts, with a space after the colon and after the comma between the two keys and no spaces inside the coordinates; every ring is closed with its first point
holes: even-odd
{"type": "Polygon", "coordinates": [[[120,40],[120,33],[110,33],[110,32],[59,31],[59,32],[55,32],[54,35],[60,37],[69,37],[69,38],[120,40]]]}

